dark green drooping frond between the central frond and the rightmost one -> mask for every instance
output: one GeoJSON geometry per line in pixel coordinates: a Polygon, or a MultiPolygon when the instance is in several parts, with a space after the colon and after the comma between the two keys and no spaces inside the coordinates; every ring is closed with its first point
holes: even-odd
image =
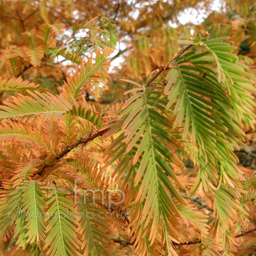
{"type": "MultiPolygon", "coordinates": [[[[206,42],[208,44],[210,40],[206,42]]],[[[238,159],[229,144],[231,142],[238,146],[244,133],[240,120],[235,117],[227,83],[219,82],[219,79],[223,80],[225,72],[221,65],[218,65],[217,70],[211,67],[216,61],[218,56],[209,56],[209,50],[185,53],[172,62],[174,68],[166,76],[169,81],[164,89],[169,99],[167,107],[173,109],[176,115],[174,126],[184,125],[183,138],[188,135],[198,145],[201,174],[207,173],[204,179],[211,179],[203,183],[206,190],[214,189],[207,183],[217,183],[218,173],[222,173],[221,177],[235,186],[237,180],[242,178],[236,167],[238,159]],[[217,164],[219,161],[221,163],[217,164]]],[[[196,186],[192,193],[195,189],[196,186]]]]}

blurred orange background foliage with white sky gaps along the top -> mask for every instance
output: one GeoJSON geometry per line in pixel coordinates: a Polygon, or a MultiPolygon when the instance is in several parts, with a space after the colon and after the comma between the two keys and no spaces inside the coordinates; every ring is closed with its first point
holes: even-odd
{"type": "MultiPolygon", "coordinates": [[[[112,55],[108,92],[99,98],[87,90],[87,100],[100,111],[111,103],[125,99],[122,93],[129,84],[138,82],[165,64],[179,49],[177,39],[185,39],[209,31],[214,37],[230,35],[230,42],[239,47],[240,58],[255,69],[256,3],[253,0],[42,0],[1,1],[0,48],[23,47],[24,33],[43,23],[62,23],[64,32],[55,45],[44,53],[42,65],[29,67],[23,79],[59,93],[67,73],[81,57],[106,45],[116,47],[112,55]],[[192,16],[191,19],[191,14],[192,16]],[[90,31],[90,32],[89,32],[90,31]],[[88,44],[90,42],[90,44],[88,44]],[[95,102],[100,102],[97,104],[95,102]]],[[[13,58],[13,61],[17,59],[13,58]]],[[[22,70],[28,62],[20,61],[22,70]]],[[[12,63],[1,58],[0,72],[17,76],[12,63]],[[7,71],[6,69],[9,69],[7,71]]]]}

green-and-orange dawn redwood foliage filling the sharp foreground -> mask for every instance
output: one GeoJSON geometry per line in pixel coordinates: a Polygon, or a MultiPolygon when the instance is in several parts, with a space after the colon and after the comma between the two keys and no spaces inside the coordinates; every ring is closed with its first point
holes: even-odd
{"type": "MultiPolygon", "coordinates": [[[[253,60],[235,54],[237,39],[176,38],[161,45],[169,47],[162,62],[138,50],[148,40],[141,35],[114,76],[124,1],[108,3],[114,17],[79,22],[69,14],[76,2],[56,1],[63,20],[48,1],[20,2],[0,9],[6,19],[11,4],[21,30],[18,38],[15,29],[1,32],[15,43],[3,41],[0,55],[0,255],[253,255],[256,172],[234,151],[246,148],[244,128],[254,129],[255,74],[253,60]],[[103,108],[91,104],[108,99],[115,83],[128,90],[103,108]]],[[[242,23],[251,40],[252,19],[242,23]]],[[[154,34],[159,24],[151,25],[154,34]]]]}

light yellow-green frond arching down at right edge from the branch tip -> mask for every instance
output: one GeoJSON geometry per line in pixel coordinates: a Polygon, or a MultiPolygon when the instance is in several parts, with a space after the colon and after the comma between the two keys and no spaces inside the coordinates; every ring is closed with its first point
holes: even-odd
{"type": "Polygon", "coordinates": [[[252,101],[253,96],[250,92],[256,92],[253,87],[255,78],[248,72],[248,67],[239,62],[236,55],[232,53],[237,47],[219,40],[216,42],[215,39],[205,41],[204,47],[215,59],[218,79],[223,81],[230,94],[236,116],[248,125],[253,125],[255,115],[252,113],[252,106],[255,106],[255,103],[252,101]]]}

